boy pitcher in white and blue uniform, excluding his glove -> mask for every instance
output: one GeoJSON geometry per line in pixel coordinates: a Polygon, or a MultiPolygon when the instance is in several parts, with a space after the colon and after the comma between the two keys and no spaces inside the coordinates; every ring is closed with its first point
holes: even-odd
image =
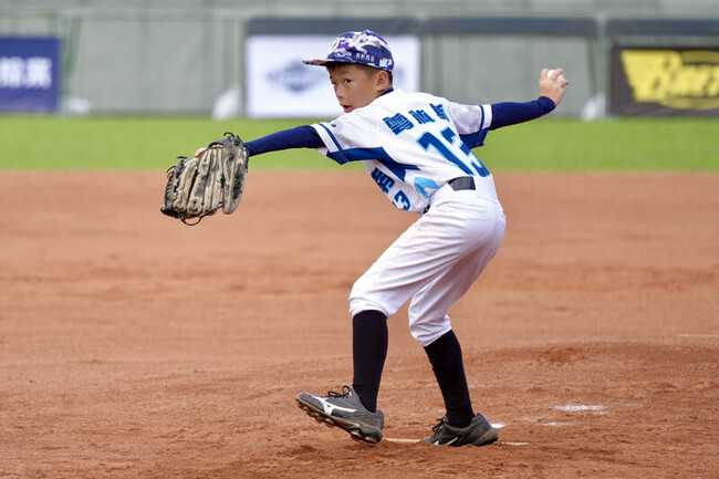
{"type": "Polygon", "coordinates": [[[354,439],[382,440],[377,393],[387,355],[387,317],[409,301],[409,331],[431,363],[447,414],[424,438],[434,445],[482,446],[497,430],[476,414],[462,354],[447,311],[494,257],[506,219],[494,183],[471,148],[487,133],[550,113],[569,82],[544,69],[539,98],[527,103],[462,105],[392,86],[395,61],[387,43],[365,30],[341,34],[322,60],[344,114],[247,143],[251,156],[316,148],[340,164],[363,162],[389,201],[419,216],[356,281],[352,387],[326,396],[301,393],[298,405],[317,421],[354,439]]]}

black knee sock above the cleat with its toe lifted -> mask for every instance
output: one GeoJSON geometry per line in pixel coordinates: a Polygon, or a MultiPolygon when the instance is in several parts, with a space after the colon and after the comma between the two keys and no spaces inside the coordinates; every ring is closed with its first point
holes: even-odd
{"type": "Polygon", "coordinates": [[[387,316],[379,311],[363,311],[352,319],[352,387],[369,412],[377,410],[382,369],[387,357],[387,316]]]}

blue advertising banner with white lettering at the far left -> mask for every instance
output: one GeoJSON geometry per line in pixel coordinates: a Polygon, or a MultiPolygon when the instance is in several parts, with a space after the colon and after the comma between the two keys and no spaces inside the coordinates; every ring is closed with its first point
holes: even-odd
{"type": "Polygon", "coordinates": [[[56,112],[60,39],[0,37],[0,112],[56,112]]]}

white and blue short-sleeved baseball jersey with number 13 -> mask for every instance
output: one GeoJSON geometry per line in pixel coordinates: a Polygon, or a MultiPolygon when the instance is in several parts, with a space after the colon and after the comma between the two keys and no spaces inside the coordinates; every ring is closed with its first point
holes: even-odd
{"type": "Polygon", "coordinates": [[[397,208],[421,212],[434,191],[460,176],[473,176],[478,190],[496,195],[470,149],[482,145],[491,115],[490,105],[395,90],[312,127],[324,142],[320,153],[340,164],[362,160],[397,208]]]}

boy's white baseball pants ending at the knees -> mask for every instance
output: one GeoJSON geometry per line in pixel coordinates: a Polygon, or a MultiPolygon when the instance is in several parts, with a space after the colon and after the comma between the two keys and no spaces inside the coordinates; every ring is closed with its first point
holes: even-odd
{"type": "MultiPolygon", "coordinates": [[[[493,185],[492,185],[493,187],[493,185]]],[[[499,249],[507,220],[493,191],[444,186],[415,221],[355,282],[350,313],[387,317],[409,303],[409,331],[427,346],[451,330],[447,315],[499,249]]]]}

